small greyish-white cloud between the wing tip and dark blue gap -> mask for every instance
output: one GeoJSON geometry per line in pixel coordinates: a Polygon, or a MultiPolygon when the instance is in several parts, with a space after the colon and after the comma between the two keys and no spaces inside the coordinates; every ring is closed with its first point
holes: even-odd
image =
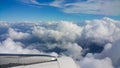
{"type": "Polygon", "coordinates": [[[67,49],[65,52],[66,55],[74,58],[74,59],[80,59],[82,53],[82,48],[77,43],[63,43],[59,46],[60,48],[67,49]]]}

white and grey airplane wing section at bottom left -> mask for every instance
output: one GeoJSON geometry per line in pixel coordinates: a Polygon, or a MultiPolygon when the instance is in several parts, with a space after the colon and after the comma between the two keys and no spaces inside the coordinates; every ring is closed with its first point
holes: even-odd
{"type": "Polygon", "coordinates": [[[41,54],[0,54],[0,68],[76,68],[70,57],[41,54]]]}

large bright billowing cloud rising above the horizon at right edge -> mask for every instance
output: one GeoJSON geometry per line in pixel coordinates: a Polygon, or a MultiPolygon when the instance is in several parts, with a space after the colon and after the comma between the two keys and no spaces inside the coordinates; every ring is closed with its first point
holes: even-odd
{"type": "Polygon", "coordinates": [[[119,21],[104,17],[101,20],[86,21],[82,36],[93,42],[113,42],[120,38],[119,21]]]}

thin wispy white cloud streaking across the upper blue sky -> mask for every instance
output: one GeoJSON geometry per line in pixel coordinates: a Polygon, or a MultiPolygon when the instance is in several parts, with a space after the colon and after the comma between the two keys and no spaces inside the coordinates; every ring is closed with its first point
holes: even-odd
{"type": "Polygon", "coordinates": [[[41,3],[38,0],[21,0],[29,5],[51,6],[65,13],[85,13],[100,15],[120,15],[120,0],[51,0],[41,3]]]}

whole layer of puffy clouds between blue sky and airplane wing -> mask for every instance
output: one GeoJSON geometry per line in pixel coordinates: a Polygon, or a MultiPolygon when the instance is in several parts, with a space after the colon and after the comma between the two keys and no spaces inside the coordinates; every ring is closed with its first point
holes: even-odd
{"type": "Polygon", "coordinates": [[[120,21],[85,23],[1,23],[0,53],[58,54],[72,57],[80,68],[119,68],[120,21]]]}

